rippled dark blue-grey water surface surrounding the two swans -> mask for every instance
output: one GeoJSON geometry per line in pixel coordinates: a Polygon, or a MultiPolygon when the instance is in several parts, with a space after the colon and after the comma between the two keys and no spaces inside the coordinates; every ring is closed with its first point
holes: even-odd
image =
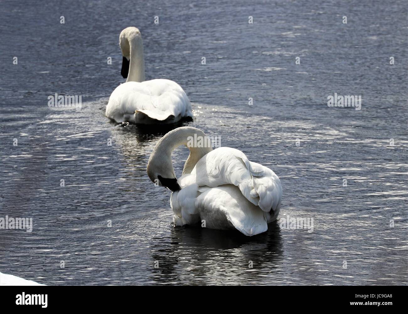
{"type": "MultiPolygon", "coordinates": [[[[407,284],[407,25],[403,0],[2,1],[0,217],[34,226],[0,230],[0,271],[47,285],[407,284]],[[146,175],[168,130],[104,116],[126,26],[142,33],[146,79],[179,83],[189,125],[271,167],[279,217],[313,218],[313,232],[174,228],[169,191],[146,175]],[[82,95],[82,110],[49,108],[55,92],[82,95]],[[361,110],[329,108],[335,92],[362,95],[361,110]]],[[[177,175],[187,154],[173,154],[177,175]]]]}

